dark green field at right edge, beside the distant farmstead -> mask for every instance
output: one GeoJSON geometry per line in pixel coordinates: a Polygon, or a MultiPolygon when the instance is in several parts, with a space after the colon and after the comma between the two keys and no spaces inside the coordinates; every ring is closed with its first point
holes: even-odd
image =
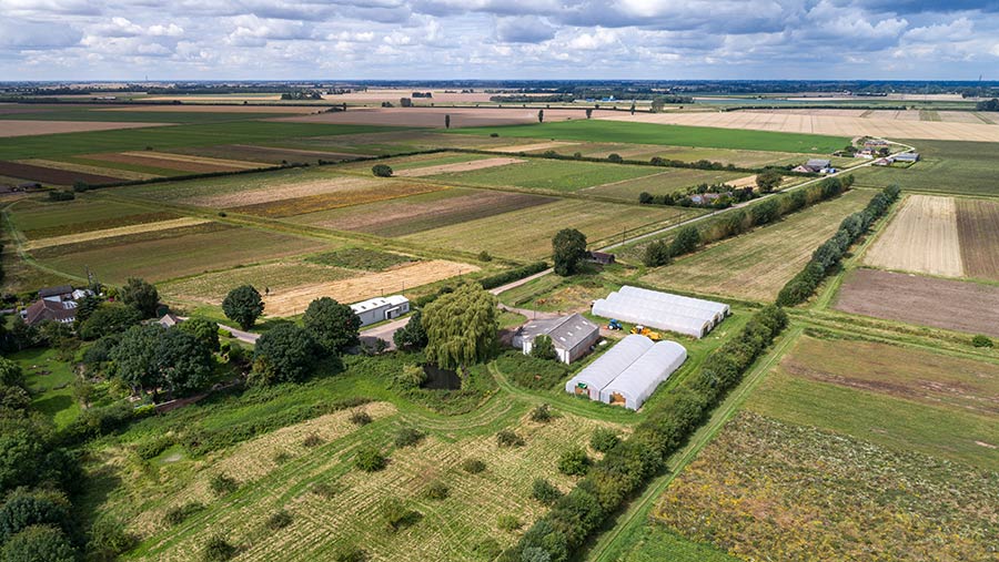
{"type": "Polygon", "coordinates": [[[916,192],[997,196],[999,143],[904,141],[915,145],[921,161],[907,167],[868,166],[855,175],[858,185],[898,184],[916,192]]]}

